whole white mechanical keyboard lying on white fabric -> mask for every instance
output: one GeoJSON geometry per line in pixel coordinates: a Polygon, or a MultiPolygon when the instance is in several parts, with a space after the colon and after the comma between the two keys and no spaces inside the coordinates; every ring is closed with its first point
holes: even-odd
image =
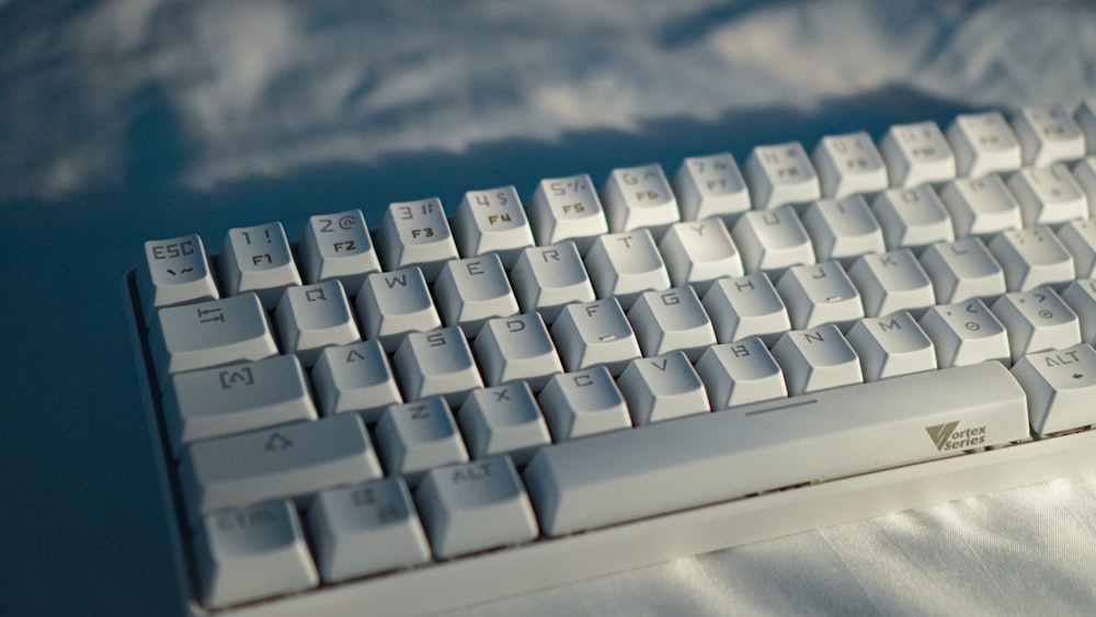
{"type": "Polygon", "coordinates": [[[181,604],[432,613],[1096,469],[1094,155],[1089,101],[146,242],[181,604]]]}

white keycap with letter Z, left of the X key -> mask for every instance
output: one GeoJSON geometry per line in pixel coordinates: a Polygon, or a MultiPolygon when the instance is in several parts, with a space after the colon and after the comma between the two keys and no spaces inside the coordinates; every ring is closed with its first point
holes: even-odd
{"type": "Polygon", "coordinates": [[[468,461],[453,412],[442,397],[389,407],[374,435],[385,470],[403,476],[412,488],[434,467],[468,461]]]}

